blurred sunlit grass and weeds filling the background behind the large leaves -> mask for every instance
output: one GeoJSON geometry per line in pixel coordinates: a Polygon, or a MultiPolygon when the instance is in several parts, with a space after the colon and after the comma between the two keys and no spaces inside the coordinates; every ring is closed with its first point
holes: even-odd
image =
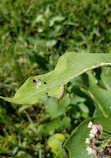
{"type": "MultiPolygon", "coordinates": [[[[66,51],[111,53],[110,25],[110,0],[0,0],[0,95],[13,96],[28,77],[53,70],[66,51]]],[[[62,142],[94,112],[81,80],[68,83],[59,103],[47,96],[33,106],[0,100],[0,157],[66,154],[62,142]]]]}

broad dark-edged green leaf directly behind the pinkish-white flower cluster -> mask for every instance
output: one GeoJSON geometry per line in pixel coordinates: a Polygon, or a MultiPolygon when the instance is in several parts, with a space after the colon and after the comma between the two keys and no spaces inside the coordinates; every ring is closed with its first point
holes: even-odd
{"type": "Polygon", "coordinates": [[[72,132],[69,139],[65,142],[64,147],[69,151],[70,158],[93,158],[92,155],[88,155],[86,151],[87,144],[85,139],[89,138],[90,129],[87,127],[88,123],[92,121],[94,124],[101,124],[104,130],[111,132],[111,126],[108,122],[111,122],[111,118],[90,118],[82,122],[74,131],[72,132]]]}

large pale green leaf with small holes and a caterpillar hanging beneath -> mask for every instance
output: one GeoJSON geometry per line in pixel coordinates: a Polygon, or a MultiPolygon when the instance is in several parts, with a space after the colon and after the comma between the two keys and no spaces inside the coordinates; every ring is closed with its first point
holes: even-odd
{"type": "Polygon", "coordinates": [[[16,104],[35,104],[41,95],[48,94],[48,96],[56,97],[61,85],[88,70],[111,66],[110,61],[110,54],[67,52],[60,57],[53,71],[27,79],[13,98],[2,96],[0,98],[16,104]],[[35,85],[33,81],[42,85],[35,85]]]}

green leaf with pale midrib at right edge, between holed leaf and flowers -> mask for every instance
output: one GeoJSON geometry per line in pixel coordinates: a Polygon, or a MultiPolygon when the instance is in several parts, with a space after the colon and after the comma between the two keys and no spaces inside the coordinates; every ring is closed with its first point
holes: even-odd
{"type": "Polygon", "coordinates": [[[89,75],[89,90],[88,93],[95,102],[96,111],[94,116],[103,115],[108,117],[111,115],[111,91],[101,88],[97,85],[94,76],[91,73],[89,75]]]}

